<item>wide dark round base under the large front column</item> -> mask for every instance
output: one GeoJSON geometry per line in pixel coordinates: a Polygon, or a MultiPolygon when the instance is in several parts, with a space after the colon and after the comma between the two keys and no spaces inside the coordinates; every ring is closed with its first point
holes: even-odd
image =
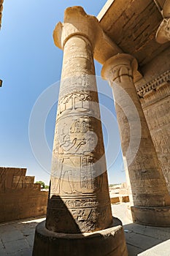
{"type": "Polygon", "coordinates": [[[93,233],[66,234],[47,230],[45,221],[36,226],[33,256],[127,256],[122,223],[93,233]]]}

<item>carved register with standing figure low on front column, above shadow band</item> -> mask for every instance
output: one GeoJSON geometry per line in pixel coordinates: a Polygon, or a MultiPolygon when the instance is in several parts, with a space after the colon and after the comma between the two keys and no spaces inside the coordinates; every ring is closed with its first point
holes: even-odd
{"type": "Polygon", "coordinates": [[[102,177],[93,177],[93,157],[63,157],[53,170],[55,183],[51,192],[57,194],[80,194],[102,188],[102,177]]]}

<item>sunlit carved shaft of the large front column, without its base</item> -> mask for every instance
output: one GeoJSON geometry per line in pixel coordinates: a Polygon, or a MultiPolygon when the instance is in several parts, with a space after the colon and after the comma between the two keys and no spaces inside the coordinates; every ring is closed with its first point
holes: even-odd
{"type": "MultiPolygon", "coordinates": [[[[67,14],[72,17],[72,9],[67,14]]],[[[84,31],[83,26],[82,32],[79,28],[75,33],[65,17],[63,25],[55,29],[55,37],[62,39],[63,68],[46,227],[63,233],[102,230],[112,223],[93,63],[93,28],[89,23],[84,31]]]]}

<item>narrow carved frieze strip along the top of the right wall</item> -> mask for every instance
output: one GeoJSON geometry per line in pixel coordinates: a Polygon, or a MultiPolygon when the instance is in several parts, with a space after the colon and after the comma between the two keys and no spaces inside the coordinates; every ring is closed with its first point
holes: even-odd
{"type": "Polygon", "coordinates": [[[149,83],[146,83],[144,86],[140,87],[137,90],[137,94],[139,97],[144,97],[145,94],[147,94],[149,91],[157,89],[158,86],[161,86],[163,83],[169,83],[170,82],[170,70],[167,70],[158,78],[155,78],[151,80],[149,83]]]}

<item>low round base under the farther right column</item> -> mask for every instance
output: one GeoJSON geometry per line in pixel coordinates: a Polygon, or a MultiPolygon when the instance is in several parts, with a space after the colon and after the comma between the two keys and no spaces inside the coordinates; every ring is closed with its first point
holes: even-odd
{"type": "Polygon", "coordinates": [[[133,222],[156,227],[170,227],[170,206],[131,206],[133,222]]]}

